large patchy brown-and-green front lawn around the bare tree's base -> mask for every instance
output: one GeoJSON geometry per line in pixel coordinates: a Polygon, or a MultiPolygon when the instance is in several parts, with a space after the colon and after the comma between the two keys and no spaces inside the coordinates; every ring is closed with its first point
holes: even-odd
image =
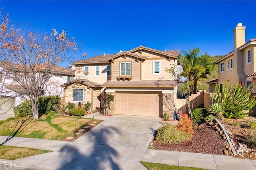
{"type": "MultiPolygon", "coordinates": [[[[0,135],[65,140],[69,136],[78,137],[79,135],[76,136],[74,133],[94,121],[96,120],[90,118],[54,114],[42,115],[39,120],[33,120],[33,116],[30,115],[0,121],[0,135]]],[[[81,134],[85,132],[86,130],[81,134]]]]}

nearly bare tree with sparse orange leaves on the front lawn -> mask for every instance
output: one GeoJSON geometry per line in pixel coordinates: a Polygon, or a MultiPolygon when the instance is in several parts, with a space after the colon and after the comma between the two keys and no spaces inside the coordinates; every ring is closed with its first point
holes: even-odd
{"type": "Polygon", "coordinates": [[[64,30],[30,32],[17,29],[8,15],[1,14],[0,67],[8,79],[12,79],[22,95],[30,98],[34,119],[38,119],[38,98],[56,66],[68,60],[77,50],[74,38],[68,38],[64,30]]]}

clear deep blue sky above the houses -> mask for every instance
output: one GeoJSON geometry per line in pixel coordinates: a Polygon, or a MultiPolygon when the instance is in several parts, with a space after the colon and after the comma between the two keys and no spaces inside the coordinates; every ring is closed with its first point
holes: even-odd
{"type": "Polygon", "coordinates": [[[84,42],[78,59],[130,50],[139,45],[225,55],[233,50],[233,29],[246,26],[256,38],[256,1],[7,1],[1,9],[15,23],[51,32],[68,31],[84,42]]]}

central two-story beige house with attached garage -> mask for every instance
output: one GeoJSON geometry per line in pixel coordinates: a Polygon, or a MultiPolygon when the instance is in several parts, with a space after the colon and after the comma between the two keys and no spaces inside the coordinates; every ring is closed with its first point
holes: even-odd
{"type": "Polygon", "coordinates": [[[168,110],[163,100],[173,103],[177,90],[175,77],[165,69],[178,64],[178,55],[179,50],[139,46],[75,62],[76,79],[62,85],[65,102],[90,102],[93,111],[101,106],[100,97],[106,93],[114,95],[112,115],[162,117],[168,110]]]}

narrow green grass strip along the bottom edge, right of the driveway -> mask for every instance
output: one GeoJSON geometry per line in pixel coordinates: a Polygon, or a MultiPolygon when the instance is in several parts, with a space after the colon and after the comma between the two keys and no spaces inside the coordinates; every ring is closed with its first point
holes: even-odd
{"type": "Polygon", "coordinates": [[[186,167],[186,166],[176,166],[176,165],[166,165],[166,164],[158,164],[152,162],[142,162],[148,170],[204,170],[202,168],[193,168],[193,167],[186,167]]]}

